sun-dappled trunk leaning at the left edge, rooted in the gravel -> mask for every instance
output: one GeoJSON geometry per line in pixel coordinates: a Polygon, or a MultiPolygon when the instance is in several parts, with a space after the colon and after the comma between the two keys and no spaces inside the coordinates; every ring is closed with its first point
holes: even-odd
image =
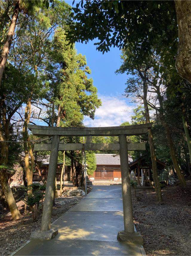
{"type": "MultiPolygon", "coordinates": [[[[7,165],[7,161],[8,161],[8,143],[1,142],[0,164],[7,165]]],[[[1,183],[1,188],[3,190],[3,194],[7,200],[9,210],[13,217],[13,220],[19,219],[21,217],[21,215],[19,213],[15,199],[13,197],[12,190],[11,190],[9,182],[7,180],[7,170],[5,168],[0,168],[0,183],[1,183]]]]}

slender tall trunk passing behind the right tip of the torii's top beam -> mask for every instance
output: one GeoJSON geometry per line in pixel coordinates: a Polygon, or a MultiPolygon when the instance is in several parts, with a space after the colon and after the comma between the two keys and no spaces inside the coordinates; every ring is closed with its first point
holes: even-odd
{"type": "MultiPolygon", "coordinates": [[[[146,76],[146,73],[144,74],[144,76],[146,76]]],[[[143,103],[144,103],[144,110],[145,110],[145,118],[146,118],[146,124],[148,124],[150,123],[150,115],[149,115],[149,108],[147,104],[147,82],[146,82],[146,77],[143,77],[143,76],[141,77],[143,79],[143,103]]],[[[151,129],[148,130],[148,140],[149,140],[150,153],[151,153],[153,180],[155,183],[156,201],[157,203],[162,204],[163,200],[162,200],[162,193],[161,193],[161,185],[158,180],[156,154],[155,154],[155,147],[153,142],[153,133],[151,129]]]]}

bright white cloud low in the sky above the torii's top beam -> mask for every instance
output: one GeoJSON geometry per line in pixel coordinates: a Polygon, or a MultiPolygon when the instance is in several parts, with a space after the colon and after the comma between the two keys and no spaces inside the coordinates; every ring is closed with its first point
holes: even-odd
{"type": "Polygon", "coordinates": [[[99,96],[102,106],[96,110],[95,119],[84,118],[88,127],[118,126],[125,121],[131,121],[130,116],[135,108],[128,99],[122,97],[99,96]]]}

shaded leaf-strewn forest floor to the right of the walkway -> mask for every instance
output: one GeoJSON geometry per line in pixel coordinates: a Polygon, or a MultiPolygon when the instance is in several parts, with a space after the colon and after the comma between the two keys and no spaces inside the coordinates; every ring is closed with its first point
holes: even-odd
{"type": "Polygon", "coordinates": [[[152,189],[137,189],[133,215],[137,231],[144,238],[147,255],[191,255],[191,178],[187,187],[164,187],[164,204],[155,202],[152,189]]]}

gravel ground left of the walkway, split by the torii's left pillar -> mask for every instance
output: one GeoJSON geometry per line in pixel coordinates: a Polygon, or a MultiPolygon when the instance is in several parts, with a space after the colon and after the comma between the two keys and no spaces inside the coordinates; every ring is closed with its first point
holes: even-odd
{"type": "MultiPolygon", "coordinates": [[[[53,207],[52,222],[77,204],[83,196],[56,198],[56,206],[53,207]]],[[[24,202],[17,203],[21,213],[21,219],[12,221],[10,213],[2,211],[0,215],[0,255],[10,255],[13,251],[29,240],[31,231],[40,228],[42,214],[39,213],[38,221],[33,222],[31,213],[24,215],[24,202]]]]}

